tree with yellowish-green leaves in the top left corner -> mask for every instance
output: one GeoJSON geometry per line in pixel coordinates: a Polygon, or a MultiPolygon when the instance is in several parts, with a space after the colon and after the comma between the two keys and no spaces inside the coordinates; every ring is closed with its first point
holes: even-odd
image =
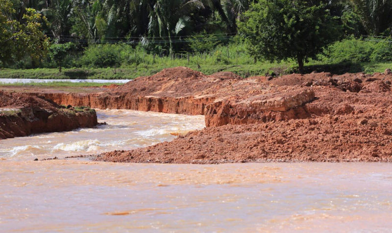
{"type": "Polygon", "coordinates": [[[49,40],[42,32],[45,17],[26,8],[21,22],[12,18],[15,13],[10,0],[0,0],[0,61],[9,63],[28,54],[34,61],[46,56],[49,40]]]}

